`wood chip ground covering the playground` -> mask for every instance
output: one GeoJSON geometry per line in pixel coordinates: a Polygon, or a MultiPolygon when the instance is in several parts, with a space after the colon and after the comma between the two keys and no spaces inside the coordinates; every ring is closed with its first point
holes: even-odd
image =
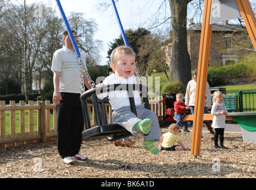
{"type": "MultiPolygon", "coordinates": [[[[191,147],[192,132],[179,137],[191,147]]],[[[244,143],[240,133],[225,133],[227,150],[214,149],[203,133],[196,159],[190,149],[156,156],[144,149],[142,135],[131,139],[131,148],[115,147],[106,138],[84,140],[80,153],[88,159],[74,165],[62,163],[56,141],[1,149],[0,178],[256,178],[256,144],[244,143]]]]}

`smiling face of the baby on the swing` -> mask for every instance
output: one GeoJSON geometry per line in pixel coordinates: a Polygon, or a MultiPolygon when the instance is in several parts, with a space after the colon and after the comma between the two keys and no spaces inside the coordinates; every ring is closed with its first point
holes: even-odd
{"type": "Polygon", "coordinates": [[[135,71],[135,56],[124,55],[116,58],[115,64],[111,63],[115,75],[118,77],[131,77],[135,71]]]}

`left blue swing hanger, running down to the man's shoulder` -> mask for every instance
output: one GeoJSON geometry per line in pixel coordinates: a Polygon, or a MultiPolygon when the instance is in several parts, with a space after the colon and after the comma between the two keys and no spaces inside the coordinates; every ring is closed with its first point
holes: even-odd
{"type": "Polygon", "coordinates": [[[62,20],[64,21],[65,26],[66,26],[66,28],[67,28],[68,36],[69,36],[70,39],[71,39],[72,45],[73,45],[74,50],[75,50],[75,54],[77,55],[77,58],[78,58],[78,57],[81,57],[81,54],[80,54],[80,52],[79,52],[79,50],[78,50],[77,43],[75,42],[75,38],[74,38],[74,36],[73,36],[72,30],[71,30],[71,28],[70,28],[70,26],[69,26],[69,24],[68,24],[67,17],[66,17],[66,15],[65,15],[65,12],[64,12],[62,6],[61,6],[61,2],[59,2],[59,0],[56,0],[56,3],[57,3],[57,5],[58,5],[59,12],[61,12],[62,20]]]}

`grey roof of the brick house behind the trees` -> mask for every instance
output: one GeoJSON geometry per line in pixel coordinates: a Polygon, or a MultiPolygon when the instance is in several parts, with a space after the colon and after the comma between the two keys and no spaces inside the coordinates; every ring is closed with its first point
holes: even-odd
{"type": "MultiPolygon", "coordinates": [[[[197,23],[188,27],[188,30],[201,31],[202,24],[197,23]]],[[[213,24],[213,31],[245,31],[245,26],[240,24],[225,24],[225,23],[215,23],[213,24]]]]}

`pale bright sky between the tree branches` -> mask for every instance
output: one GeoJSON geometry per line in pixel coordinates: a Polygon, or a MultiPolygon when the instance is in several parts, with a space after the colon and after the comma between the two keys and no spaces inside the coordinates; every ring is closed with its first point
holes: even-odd
{"type": "MultiPolygon", "coordinates": [[[[48,1],[53,7],[56,7],[55,1],[48,1]]],[[[106,62],[104,58],[107,56],[108,43],[113,42],[113,39],[118,38],[121,34],[112,6],[108,8],[108,11],[99,11],[96,6],[99,4],[99,0],[60,0],[60,2],[67,16],[72,11],[83,12],[86,14],[86,18],[93,18],[98,24],[98,31],[94,38],[103,42],[102,64],[104,64],[106,62]]],[[[131,4],[129,0],[120,0],[116,4],[116,8],[124,30],[136,30],[139,26],[146,27],[144,26],[145,21],[148,21],[151,15],[157,11],[159,2],[161,1],[147,0],[131,4]],[[145,2],[150,2],[150,4],[145,4],[145,2]]],[[[111,4],[110,0],[109,4],[111,4]]],[[[58,8],[56,10],[59,11],[58,8]]]]}

